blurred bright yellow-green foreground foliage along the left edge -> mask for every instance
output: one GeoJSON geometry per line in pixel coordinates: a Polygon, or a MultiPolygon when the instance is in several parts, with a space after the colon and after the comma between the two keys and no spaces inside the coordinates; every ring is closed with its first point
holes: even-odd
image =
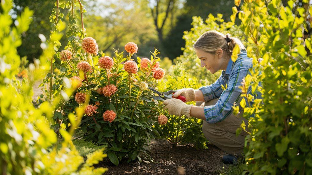
{"type": "MultiPolygon", "coordinates": [[[[106,156],[103,149],[89,154],[84,163],[71,138],[79,126],[81,115],[72,120],[73,129],[61,131],[64,138],[60,151],[56,150],[57,137],[50,129],[54,104],[42,103],[39,108],[32,105],[32,85],[42,72],[47,71],[46,58],[50,58],[53,44],[49,44],[35,64],[29,66],[30,79],[16,80],[20,65],[17,47],[22,44],[21,34],[28,30],[32,11],[25,8],[17,17],[16,27],[11,27],[9,11],[12,1],[1,1],[0,14],[0,172],[2,174],[102,174],[106,168],[95,169],[92,165],[106,156]],[[41,62],[41,63],[40,63],[41,62]],[[80,117],[79,117],[80,116],[80,117]],[[55,146],[51,152],[47,149],[55,146]],[[81,165],[81,163],[84,163],[81,165]]],[[[52,33],[51,42],[61,38],[52,33]]],[[[58,101],[56,100],[58,103],[58,101]]],[[[77,109],[79,113],[79,110],[77,109]]],[[[73,119],[73,118],[71,118],[73,119]]]]}

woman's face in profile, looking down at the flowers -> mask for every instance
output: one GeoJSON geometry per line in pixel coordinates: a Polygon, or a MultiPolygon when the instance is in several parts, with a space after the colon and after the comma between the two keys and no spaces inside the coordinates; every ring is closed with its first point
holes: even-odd
{"type": "Polygon", "coordinates": [[[195,49],[197,57],[200,59],[200,66],[206,67],[212,74],[216,73],[218,70],[224,68],[224,59],[222,59],[223,51],[222,49],[217,50],[215,54],[211,54],[200,49],[195,49]]]}

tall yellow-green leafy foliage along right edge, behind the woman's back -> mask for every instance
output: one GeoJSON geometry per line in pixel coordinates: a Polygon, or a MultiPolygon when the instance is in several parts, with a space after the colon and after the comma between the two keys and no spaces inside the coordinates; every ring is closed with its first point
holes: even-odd
{"type": "MultiPolygon", "coordinates": [[[[289,1],[284,7],[277,0],[247,1],[239,14],[255,66],[245,87],[263,93],[262,103],[254,100],[244,112],[245,117],[254,116],[249,118],[251,135],[246,139],[249,174],[312,173],[312,71],[307,56],[312,48],[311,36],[303,35],[310,28],[312,7],[308,1],[301,7],[300,3],[289,1]],[[261,64],[258,58],[264,59],[261,64]],[[259,81],[263,89],[257,87],[259,81]]],[[[250,103],[253,97],[247,99],[250,103]]]]}

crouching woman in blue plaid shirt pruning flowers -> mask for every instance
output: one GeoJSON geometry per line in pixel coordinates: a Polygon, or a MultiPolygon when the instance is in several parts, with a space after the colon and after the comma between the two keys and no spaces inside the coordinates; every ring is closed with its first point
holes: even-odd
{"type": "Polygon", "coordinates": [[[245,121],[246,125],[248,121],[242,117],[243,110],[240,110],[238,115],[233,115],[232,106],[234,103],[240,104],[242,91],[239,86],[252,67],[252,59],[247,57],[245,47],[239,39],[217,31],[202,34],[193,48],[200,59],[201,67],[205,67],[212,74],[222,70],[222,75],[209,86],[198,90],[180,89],[173,95],[186,97],[186,102],[197,101],[196,106],[184,104],[179,99],[168,99],[163,102],[164,109],[168,109],[171,115],[192,116],[205,120],[202,125],[205,137],[228,153],[222,157],[224,163],[233,163],[237,160],[237,156],[241,157],[244,138],[247,135],[242,131],[236,137],[236,129],[240,127],[242,121],[245,121]],[[231,55],[236,44],[240,47],[241,53],[233,62],[231,55]]]}

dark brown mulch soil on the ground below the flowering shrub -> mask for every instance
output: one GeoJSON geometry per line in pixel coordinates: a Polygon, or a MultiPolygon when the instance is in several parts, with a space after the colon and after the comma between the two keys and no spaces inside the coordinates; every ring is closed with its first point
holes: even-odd
{"type": "Polygon", "coordinates": [[[96,167],[107,167],[105,174],[165,174],[165,175],[219,175],[223,163],[221,157],[225,152],[214,145],[207,150],[196,150],[190,145],[172,146],[163,139],[152,140],[151,157],[154,162],[122,160],[119,166],[110,163],[108,158],[96,167]]]}

